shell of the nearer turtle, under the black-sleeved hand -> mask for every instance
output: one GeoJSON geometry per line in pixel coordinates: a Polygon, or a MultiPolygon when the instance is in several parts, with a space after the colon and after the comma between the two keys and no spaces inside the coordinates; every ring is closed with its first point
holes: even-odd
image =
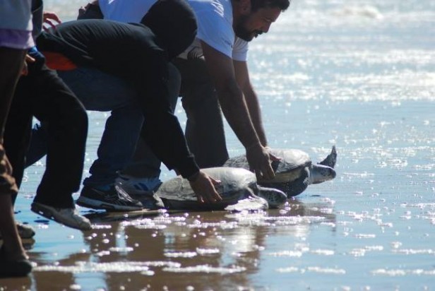
{"type": "Polygon", "coordinates": [[[243,168],[215,167],[203,169],[203,172],[221,181],[215,186],[222,197],[221,202],[198,202],[189,181],[181,176],[163,182],[155,192],[156,198],[160,198],[165,208],[169,209],[221,210],[258,191],[255,174],[243,168]]]}

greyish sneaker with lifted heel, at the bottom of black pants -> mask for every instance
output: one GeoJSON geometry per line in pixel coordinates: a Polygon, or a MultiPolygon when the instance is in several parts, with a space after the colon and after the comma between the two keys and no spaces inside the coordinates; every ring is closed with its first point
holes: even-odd
{"type": "Polygon", "coordinates": [[[88,218],[78,214],[76,208],[56,208],[33,202],[31,209],[34,213],[44,216],[44,218],[52,219],[77,230],[90,230],[92,228],[88,218]]]}

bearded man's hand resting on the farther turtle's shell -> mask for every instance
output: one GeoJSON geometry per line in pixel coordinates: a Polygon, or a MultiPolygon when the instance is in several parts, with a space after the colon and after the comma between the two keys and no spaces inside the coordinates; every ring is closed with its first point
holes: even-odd
{"type": "Polygon", "coordinates": [[[267,148],[260,143],[246,148],[246,159],[249,162],[249,169],[256,174],[257,180],[270,180],[275,178],[270,161],[278,161],[280,158],[275,157],[268,152],[267,148]]]}

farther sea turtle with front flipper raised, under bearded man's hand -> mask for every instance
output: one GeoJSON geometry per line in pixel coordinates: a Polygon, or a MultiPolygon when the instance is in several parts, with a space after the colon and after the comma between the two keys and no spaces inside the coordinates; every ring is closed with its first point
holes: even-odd
{"type": "MultiPolygon", "coordinates": [[[[337,151],[335,145],[325,160],[313,164],[309,155],[297,149],[269,149],[270,153],[282,160],[272,162],[275,179],[260,180],[258,184],[280,189],[287,197],[297,196],[310,184],[318,184],[335,178],[335,162],[337,151]]],[[[230,158],[224,167],[241,167],[249,169],[246,155],[230,158]]]]}

